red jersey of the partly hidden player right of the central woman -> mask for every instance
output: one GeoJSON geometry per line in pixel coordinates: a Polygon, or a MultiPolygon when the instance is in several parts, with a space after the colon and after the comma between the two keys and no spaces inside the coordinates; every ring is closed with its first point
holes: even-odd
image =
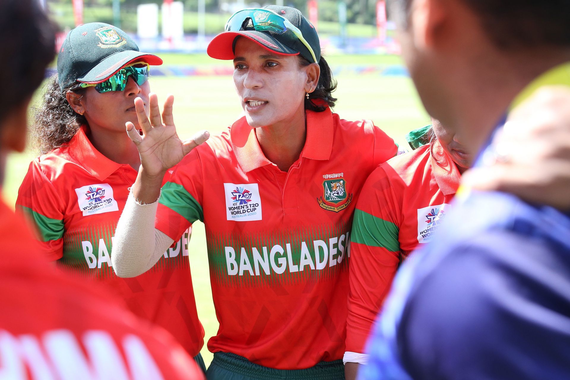
{"type": "Polygon", "coordinates": [[[434,140],[378,166],[364,183],[352,223],[347,352],[363,352],[398,266],[433,239],[460,180],[434,140]]]}

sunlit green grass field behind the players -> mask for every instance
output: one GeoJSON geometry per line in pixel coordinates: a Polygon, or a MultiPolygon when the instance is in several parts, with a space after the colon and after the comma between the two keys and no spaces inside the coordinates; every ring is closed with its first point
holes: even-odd
{"type": "MultiPolygon", "coordinates": [[[[164,58],[166,64],[192,64],[194,61],[209,63],[205,55],[201,58],[165,55],[164,58]]],[[[328,61],[334,67],[338,64],[393,64],[398,63],[399,59],[330,56],[328,61]]],[[[220,62],[217,61],[217,64],[220,62]]],[[[231,65],[230,62],[227,64],[231,65]]],[[[337,80],[339,85],[336,97],[339,101],[334,111],[343,119],[371,119],[400,145],[406,144],[406,132],[429,122],[412,82],[407,77],[339,75],[337,80]]],[[[154,77],[150,83],[152,90],[158,94],[159,101],[168,93],[174,95],[174,120],[181,138],[188,138],[201,129],[207,129],[210,133],[220,132],[241,115],[241,105],[230,76],[154,77]]],[[[34,156],[35,152],[12,154],[7,160],[3,195],[10,205],[15,202],[19,184],[34,156]]],[[[347,160],[351,158],[347,157],[347,160]]],[[[198,314],[206,330],[207,340],[217,332],[218,321],[211,299],[204,227],[200,222],[194,224],[189,250],[198,314]]],[[[202,355],[208,365],[212,355],[206,346],[202,349],[202,355]]]]}

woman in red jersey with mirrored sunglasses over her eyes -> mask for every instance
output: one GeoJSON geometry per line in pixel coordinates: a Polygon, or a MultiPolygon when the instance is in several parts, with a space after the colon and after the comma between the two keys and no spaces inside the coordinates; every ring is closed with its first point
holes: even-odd
{"type": "Polygon", "coordinates": [[[176,337],[205,370],[204,332],[186,257],[189,232],[165,247],[144,276],[121,279],[111,268],[115,226],[140,167],[124,124],[136,116],[135,98],[148,110],[149,65],[161,63],[112,25],[88,23],[69,32],[58,76],[36,115],[45,154],[31,162],[17,210],[30,216],[44,255],[58,267],[122,297],[137,316],[176,337]]]}

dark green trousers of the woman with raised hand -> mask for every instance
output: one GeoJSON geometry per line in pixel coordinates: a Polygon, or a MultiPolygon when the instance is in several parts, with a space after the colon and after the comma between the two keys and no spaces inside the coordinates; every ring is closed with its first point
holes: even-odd
{"type": "Polygon", "coordinates": [[[342,360],[320,362],[307,369],[281,370],[260,366],[244,357],[227,353],[214,353],[206,372],[207,380],[344,380],[342,360]]]}

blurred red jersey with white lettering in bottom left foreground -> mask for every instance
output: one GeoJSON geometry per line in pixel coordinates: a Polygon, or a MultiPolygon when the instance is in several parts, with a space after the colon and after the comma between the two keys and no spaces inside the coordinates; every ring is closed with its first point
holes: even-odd
{"type": "Polygon", "coordinates": [[[86,280],[56,271],[39,254],[25,221],[2,201],[0,247],[2,378],[203,378],[163,329],[86,280]]]}

